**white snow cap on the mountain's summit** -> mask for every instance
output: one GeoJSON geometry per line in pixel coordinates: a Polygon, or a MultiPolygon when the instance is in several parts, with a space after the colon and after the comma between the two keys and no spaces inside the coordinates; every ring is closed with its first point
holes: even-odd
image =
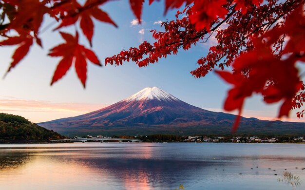
{"type": "Polygon", "coordinates": [[[158,87],[145,88],[145,89],[137,92],[136,94],[129,96],[126,100],[132,101],[132,100],[142,100],[142,99],[146,99],[146,100],[157,99],[160,101],[161,100],[165,100],[165,101],[178,100],[178,98],[163,91],[162,89],[160,89],[158,87]]]}

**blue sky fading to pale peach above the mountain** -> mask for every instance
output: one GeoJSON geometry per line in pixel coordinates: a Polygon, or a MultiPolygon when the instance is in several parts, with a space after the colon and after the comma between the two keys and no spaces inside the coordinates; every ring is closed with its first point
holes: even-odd
{"type": "MultiPolygon", "coordinates": [[[[154,2],[151,6],[145,2],[143,24],[132,25],[135,17],[128,1],[108,2],[101,9],[108,12],[119,26],[115,28],[95,21],[93,50],[103,63],[106,57],[119,53],[123,48],[136,47],[143,40],[152,42],[149,31],[160,28],[154,22],[171,20],[175,15],[175,11],[163,15],[163,2],[154,2]]],[[[0,80],[0,112],[19,114],[32,122],[42,122],[94,111],[153,86],[194,106],[222,111],[229,85],[214,73],[199,79],[190,74],[197,68],[197,59],[207,54],[211,42],[198,44],[188,51],[180,50],[177,56],[160,59],[158,63],[143,68],[133,62],[126,62],[119,67],[103,65],[102,68],[89,63],[86,89],[76,77],[74,68],[50,86],[59,58],[46,55],[49,49],[63,42],[57,32],[52,32],[57,23],[47,28],[52,22],[45,18],[42,26],[45,31],[40,34],[40,38],[44,48],[32,47],[29,55],[0,80]]],[[[62,31],[74,33],[74,28],[72,26],[62,31]]],[[[89,47],[84,37],[81,42],[89,47]]],[[[0,76],[5,74],[14,48],[1,47],[0,76]]],[[[304,66],[300,69],[305,70],[304,66]]],[[[247,100],[244,116],[274,119],[278,114],[278,106],[265,105],[262,97],[256,95],[247,100]]],[[[295,113],[291,113],[291,121],[305,122],[305,119],[297,119],[295,113]]]]}

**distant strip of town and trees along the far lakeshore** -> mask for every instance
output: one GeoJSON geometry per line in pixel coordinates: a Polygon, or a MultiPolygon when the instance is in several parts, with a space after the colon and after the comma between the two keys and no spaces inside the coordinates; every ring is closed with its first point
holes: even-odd
{"type": "Polygon", "coordinates": [[[87,136],[73,136],[70,139],[83,139],[88,138],[95,141],[97,139],[139,139],[142,142],[197,142],[197,143],[302,143],[305,142],[304,136],[181,136],[171,134],[152,134],[152,135],[139,135],[139,136],[102,136],[102,135],[87,135],[87,136]]]}

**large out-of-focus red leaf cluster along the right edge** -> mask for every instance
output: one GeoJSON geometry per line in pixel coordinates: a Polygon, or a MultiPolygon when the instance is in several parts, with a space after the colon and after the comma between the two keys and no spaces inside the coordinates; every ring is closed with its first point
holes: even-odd
{"type": "MultiPolygon", "coordinates": [[[[233,109],[241,110],[240,101],[243,102],[252,93],[261,93],[266,103],[283,100],[278,117],[288,116],[289,111],[294,107],[292,102],[297,93],[304,91],[304,84],[295,66],[297,61],[304,59],[305,41],[301,37],[305,35],[302,30],[304,27],[305,15],[303,7],[300,6],[287,17],[285,25],[280,28],[275,27],[262,36],[265,38],[265,43],[260,38],[256,39],[253,50],[234,60],[232,64],[234,74],[228,76],[227,72],[226,75],[222,74],[224,72],[218,72],[222,78],[234,85],[226,100],[226,104],[230,105],[229,108],[233,106],[233,109]],[[284,34],[290,37],[285,49],[280,52],[286,58],[274,55],[271,49],[272,44],[284,34]],[[231,81],[231,78],[236,78],[235,75],[244,76],[242,74],[245,70],[247,77],[240,79],[240,82],[231,81]]],[[[226,104],[225,109],[232,110],[226,108],[226,104]]],[[[298,114],[299,117],[300,115],[298,114]]]]}

